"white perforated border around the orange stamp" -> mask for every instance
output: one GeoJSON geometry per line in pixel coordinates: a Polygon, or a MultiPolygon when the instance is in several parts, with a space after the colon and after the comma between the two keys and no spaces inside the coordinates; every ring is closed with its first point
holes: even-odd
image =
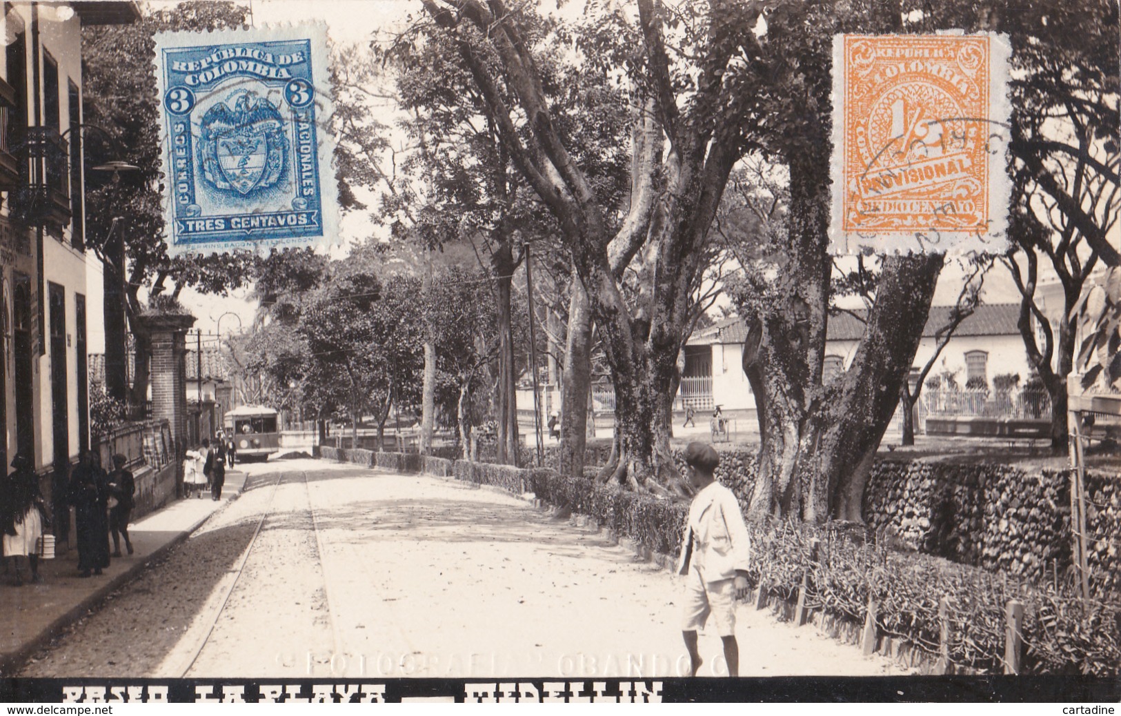
{"type": "Polygon", "coordinates": [[[830,245],[834,255],[858,253],[908,254],[946,253],[1003,253],[1008,250],[1008,213],[1011,208],[1012,179],[1008,173],[1008,145],[1011,140],[1009,120],[1012,104],[1009,99],[1009,58],[1012,47],[1007,35],[999,32],[970,32],[945,30],[937,35],[884,35],[883,37],[986,37],[989,38],[989,124],[992,133],[1000,138],[999,150],[989,152],[989,231],[983,234],[971,232],[937,232],[937,245],[932,240],[912,233],[860,233],[843,229],[844,201],[844,38],[833,36],[833,130],[831,140],[833,154],[830,157],[830,245]]]}

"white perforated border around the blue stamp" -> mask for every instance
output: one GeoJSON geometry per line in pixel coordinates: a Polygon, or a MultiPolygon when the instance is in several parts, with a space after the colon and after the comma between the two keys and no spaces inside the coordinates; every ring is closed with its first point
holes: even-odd
{"type": "Polygon", "coordinates": [[[211,253],[226,253],[230,251],[253,251],[259,255],[266,255],[271,248],[285,247],[324,247],[330,248],[342,242],[339,229],[339,198],[335,184],[335,137],[332,131],[332,120],[334,118],[334,89],[330,80],[331,54],[327,45],[327,26],[325,22],[284,22],[275,25],[263,25],[250,28],[232,28],[222,30],[176,30],[157,32],[156,54],[152,57],[152,72],[156,73],[156,102],[159,117],[159,168],[163,174],[165,189],[163,192],[163,214],[164,214],[164,241],[167,245],[167,253],[172,258],[179,255],[206,255],[211,253]],[[166,81],[160,63],[160,53],[164,49],[185,47],[194,44],[196,46],[226,45],[235,43],[267,43],[284,39],[308,39],[311,40],[312,55],[316,61],[313,65],[313,80],[322,80],[322,86],[315,87],[316,94],[316,132],[317,159],[319,171],[319,211],[323,216],[323,236],[321,238],[294,238],[294,239],[263,239],[257,241],[211,241],[198,242],[188,245],[177,245],[173,240],[172,222],[174,217],[173,180],[174,166],[170,160],[170,138],[167,133],[167,122],[164,105],[164,95],[167,93],[166,81]]]}

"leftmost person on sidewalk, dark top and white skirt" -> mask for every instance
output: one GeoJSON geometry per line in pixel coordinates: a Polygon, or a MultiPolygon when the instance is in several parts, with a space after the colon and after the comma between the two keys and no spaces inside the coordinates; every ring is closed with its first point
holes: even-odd
{"type": "Polygon", "coordinates": [[[31,461],[17,453],[11,461],[16,472],[8,475],[3,491],[3,556],[10,557],[16,570],[16,586],[24,586],[19,571],[19,557],[27,558],[31,582],[43,582],[39,576],[39,540],[44,526],[49,526],[47,504],[39,492],[39,477],[31,469],[31,461]]]}

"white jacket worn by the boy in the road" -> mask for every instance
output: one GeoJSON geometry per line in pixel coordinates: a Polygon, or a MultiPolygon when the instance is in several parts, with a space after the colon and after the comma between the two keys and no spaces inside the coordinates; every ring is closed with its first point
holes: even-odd
{"type": "Polygon", "coordinates": [[[697,566],[705,582],[731,579],[751,562],[751,537],[732,491],[713,481],[693,498],[677,574],[697,566]],[[696,539],[694,540],[694,537],[696,539]],[[700,554],[694,556],[694,541],[700,554]]]}

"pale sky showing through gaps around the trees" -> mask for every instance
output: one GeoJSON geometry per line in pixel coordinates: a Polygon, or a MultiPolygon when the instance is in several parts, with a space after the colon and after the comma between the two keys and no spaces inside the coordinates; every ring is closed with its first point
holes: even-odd
{"type": "MultiPolygon", "coordinates": [[[[174,4],[173,0],[148,0],[142,7],[158,8],[174,4]]],[[[400,27],[409,12],[420,8],[418,0],[245,0],[242,2],[251,10],[256,27],[322,20],[327,26],[327,32],[335,44],[361,44],[373,38],[379,29],[400,27]]],[[[580,12],[580,2],[565,4],[562,12],[573,15],[580,12]]],[[[352,213],[342,220],[344,242],[364,238],[371,233],[369,221],[362,212],[352,213]]],[[[99,267],[100,268],[100,267],[99,267]]],[[[91,279],[93,277],[91,276],[91,279]]],[[[100,280],[96,281],[100,286],[100,280]]],[[[935,295],[936,305],[952,304],[960,290],[961,272],[954,266],[947,266],[943,280],[935,295]]],[[[180,300],[196,316],[196,328],[205,333],[223,334],[231,331],[248,329],[253,322],[256,304],[250,299],[250,289],[231,291],[229,296],[215,297],[197,294],[185,289],[180,300]]],[[[100,300],[100,297],[90,297],[100,300]]],[[[1018,301],[1018,294],[1003,267],[994,267],[986,278],[985,300],[988,303],[1018,301]]],[[[103,344],[103,335],[91,332],[91,350],[96,352],[103,344]]]]}

